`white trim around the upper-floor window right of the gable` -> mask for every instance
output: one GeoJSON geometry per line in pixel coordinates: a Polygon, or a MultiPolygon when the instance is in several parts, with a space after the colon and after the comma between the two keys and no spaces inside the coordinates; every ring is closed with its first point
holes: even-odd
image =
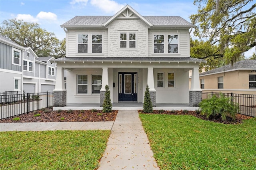
{"type": "MultiPolygon", "coordinates": [[[[160,44],[160,43],[159,43],[160,44]]],[[[170,54],[170,55],[177,55],[180,54],[180,32],[152,32],[152,54],[170,54]],[[155,35],[164,35],[164,52],[163,53],[155,53],[154,52],[154,36],[155,35]],[[169,53],[168,50],[168,35],[178,35],[178,53],[169,53]]]]}

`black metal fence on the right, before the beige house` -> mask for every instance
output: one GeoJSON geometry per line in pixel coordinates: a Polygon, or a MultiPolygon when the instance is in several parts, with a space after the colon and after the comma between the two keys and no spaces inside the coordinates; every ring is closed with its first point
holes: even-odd
{"type": "MultiPolygon", "coordinates": [[[[222,93],[224,97],[230,97],[234,103],[238,103],[240,114],[255,117],[256,115],[256,95],[236,94],[236,93],[222,93]]],[[[217,92],[202,92],[202,99],[209,99],[215,95],[220,97],[217,92]]]]}

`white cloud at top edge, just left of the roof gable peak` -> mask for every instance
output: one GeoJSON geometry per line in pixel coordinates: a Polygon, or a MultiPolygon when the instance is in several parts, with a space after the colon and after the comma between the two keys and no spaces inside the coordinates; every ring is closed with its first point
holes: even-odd
{"type": "Polygon", "coordinates": [[[118,4],[113,0],[91,0],[91,4],[106,13],[116,13],[124,7],[123,4],[118,4]]]}

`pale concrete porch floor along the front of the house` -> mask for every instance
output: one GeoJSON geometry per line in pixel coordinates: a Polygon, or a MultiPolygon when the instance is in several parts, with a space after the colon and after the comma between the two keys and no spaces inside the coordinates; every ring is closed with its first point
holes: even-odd
{"type": "MultiPolygon", "coordinates": [[[[57,110],[90,110],[97,109],[102,110],[100,103],[67,103],[64,107],[53,107],[54,111],[57,110]]],[[[119,103],[112,103],[113,110],[142,110],[143,103],[138,103],[137,101],[119,101],[119,103]]],[[[194,111],[198,107],[189,107],[188,103],[183,104],[169,104],[169,103],[157,103],[156,107],[153,107],[154,110],[188,110],[194,111]]]]}

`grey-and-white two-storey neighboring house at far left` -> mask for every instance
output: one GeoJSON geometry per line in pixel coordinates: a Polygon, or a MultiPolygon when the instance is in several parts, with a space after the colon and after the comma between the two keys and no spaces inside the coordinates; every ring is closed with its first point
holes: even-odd
{"type": "Polygon", "coordinates": [[[22,47],[4,36],[0,36],[0,45],[0,91],[19,94],[53,91],[56,83],[55,63],[50,63],[53,57],[38,57],[30,47],[22,47]]]}

